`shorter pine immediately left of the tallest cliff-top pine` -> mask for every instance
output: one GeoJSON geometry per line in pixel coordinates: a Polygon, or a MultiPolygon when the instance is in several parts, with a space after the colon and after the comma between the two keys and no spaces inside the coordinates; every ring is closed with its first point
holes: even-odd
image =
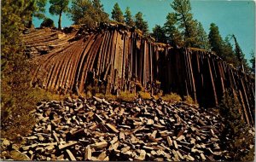
{"type": "Polygon", "coordinates": [[[170,43],[172,46],[183,46],[183,38],[176,25],[177,20],[175,14],[167,14],[166,23],[164,25],[167,43],[170,43]]]}

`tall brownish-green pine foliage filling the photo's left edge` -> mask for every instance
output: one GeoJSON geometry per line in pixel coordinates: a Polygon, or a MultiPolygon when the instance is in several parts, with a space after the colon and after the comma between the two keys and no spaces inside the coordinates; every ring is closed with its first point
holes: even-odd
{"type": "Polygon", "coordinates": [[[24,130],[32,125],[32,117],[27,112],[35,104],[29,84],[32,63],[27,61],[21,45],[21,32],[32,14],[26,2],[1,1],[1,134],[8,138],[15,138],[18,133],[25,136],[24,130]],[[15,129],[17,125],[19,129],[15,129]]]}

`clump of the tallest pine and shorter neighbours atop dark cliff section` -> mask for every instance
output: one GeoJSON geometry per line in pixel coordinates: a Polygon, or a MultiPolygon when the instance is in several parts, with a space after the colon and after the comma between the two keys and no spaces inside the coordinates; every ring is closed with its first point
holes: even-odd
{"type": "Polygon", "coordinates": [[[201,23],[193,19],[189,0],[174,0],[174,12],[166,16],[166,37],[172,46],[209,49],[207,33],[201,23]]]}

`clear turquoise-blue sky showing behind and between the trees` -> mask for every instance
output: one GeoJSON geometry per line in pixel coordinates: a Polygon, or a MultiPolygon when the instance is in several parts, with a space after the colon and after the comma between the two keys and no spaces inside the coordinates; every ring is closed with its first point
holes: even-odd
{"type": "MultiPolygon", "coordinates": [[[[120,9],[125,13],[125,8],[130,7],[131,14],[141,11],[144,20],[148,21],[149,30],[158,24],[163,26],[166,22],[166,15],[172,12],[170,6],[173,0],[102,0],[105,12],[111,18],[114,3],[119,3],[120,9]]],[[[205,31],[209,32],[211,23],[218,26],[218,30],[225,38],[235,34],[241,50],[246,55],[247,60],[251,58],[250,53],[255,54],[255,3],[253,0],[190,0],[192,14],[195,20],[199,20],[205,31]]],[[[46,16],[58,24],[58,16],[48,12],[49,3],[46,5],[46,16]]],[[[43,20],[34,18],[33,23],[36,27],[40,26],[43,20]]],[[[64,14],[61,26],[71,26],[73,21],[64,14]]],[[[230,39],[234,44],[234,40],[230,39]]]]}

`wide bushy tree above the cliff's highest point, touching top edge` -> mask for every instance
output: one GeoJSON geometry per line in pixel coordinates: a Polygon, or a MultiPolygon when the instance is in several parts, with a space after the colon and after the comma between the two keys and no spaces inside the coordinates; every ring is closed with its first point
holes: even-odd
{"type": "Polygon", "coordinates": [[[108,14],[104,12],[100,1],[73,0],[69,16],[74,24],[97,26],[100,22],[108,22],[108,14]]]}

